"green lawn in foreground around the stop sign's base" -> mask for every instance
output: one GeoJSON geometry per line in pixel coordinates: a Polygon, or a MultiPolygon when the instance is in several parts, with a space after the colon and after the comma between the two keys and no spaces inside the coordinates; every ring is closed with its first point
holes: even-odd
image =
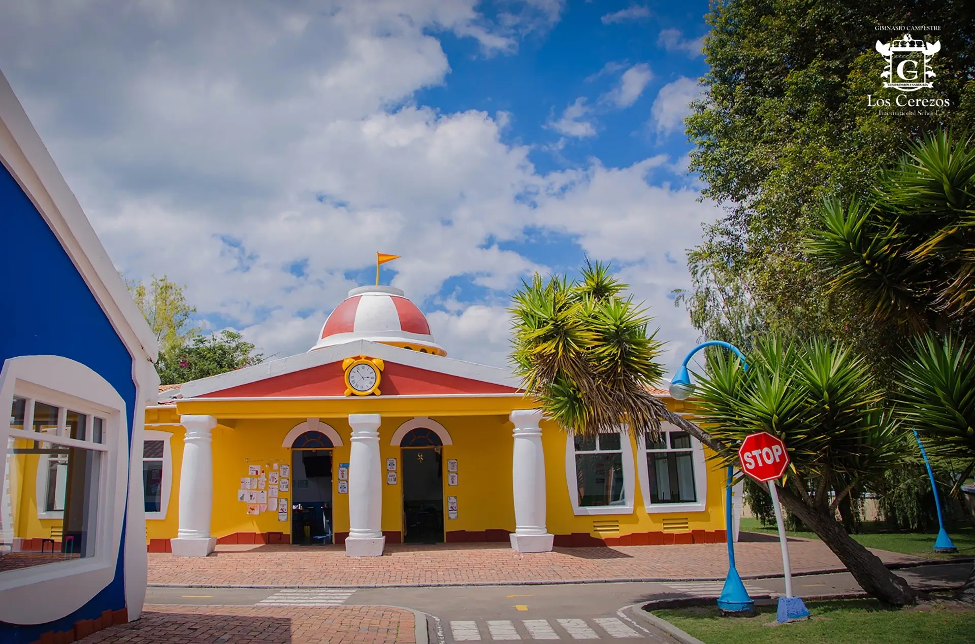
{"type": "Polygon", "coordinates": [[[775,621],[775,607],[751,618],[725,618],[717,607],[653,611],[705,644],[971,644],[975,610],[934,605],[890,610],[874,599],[810,601],[812,617],[794,624],[775,621]]]}

